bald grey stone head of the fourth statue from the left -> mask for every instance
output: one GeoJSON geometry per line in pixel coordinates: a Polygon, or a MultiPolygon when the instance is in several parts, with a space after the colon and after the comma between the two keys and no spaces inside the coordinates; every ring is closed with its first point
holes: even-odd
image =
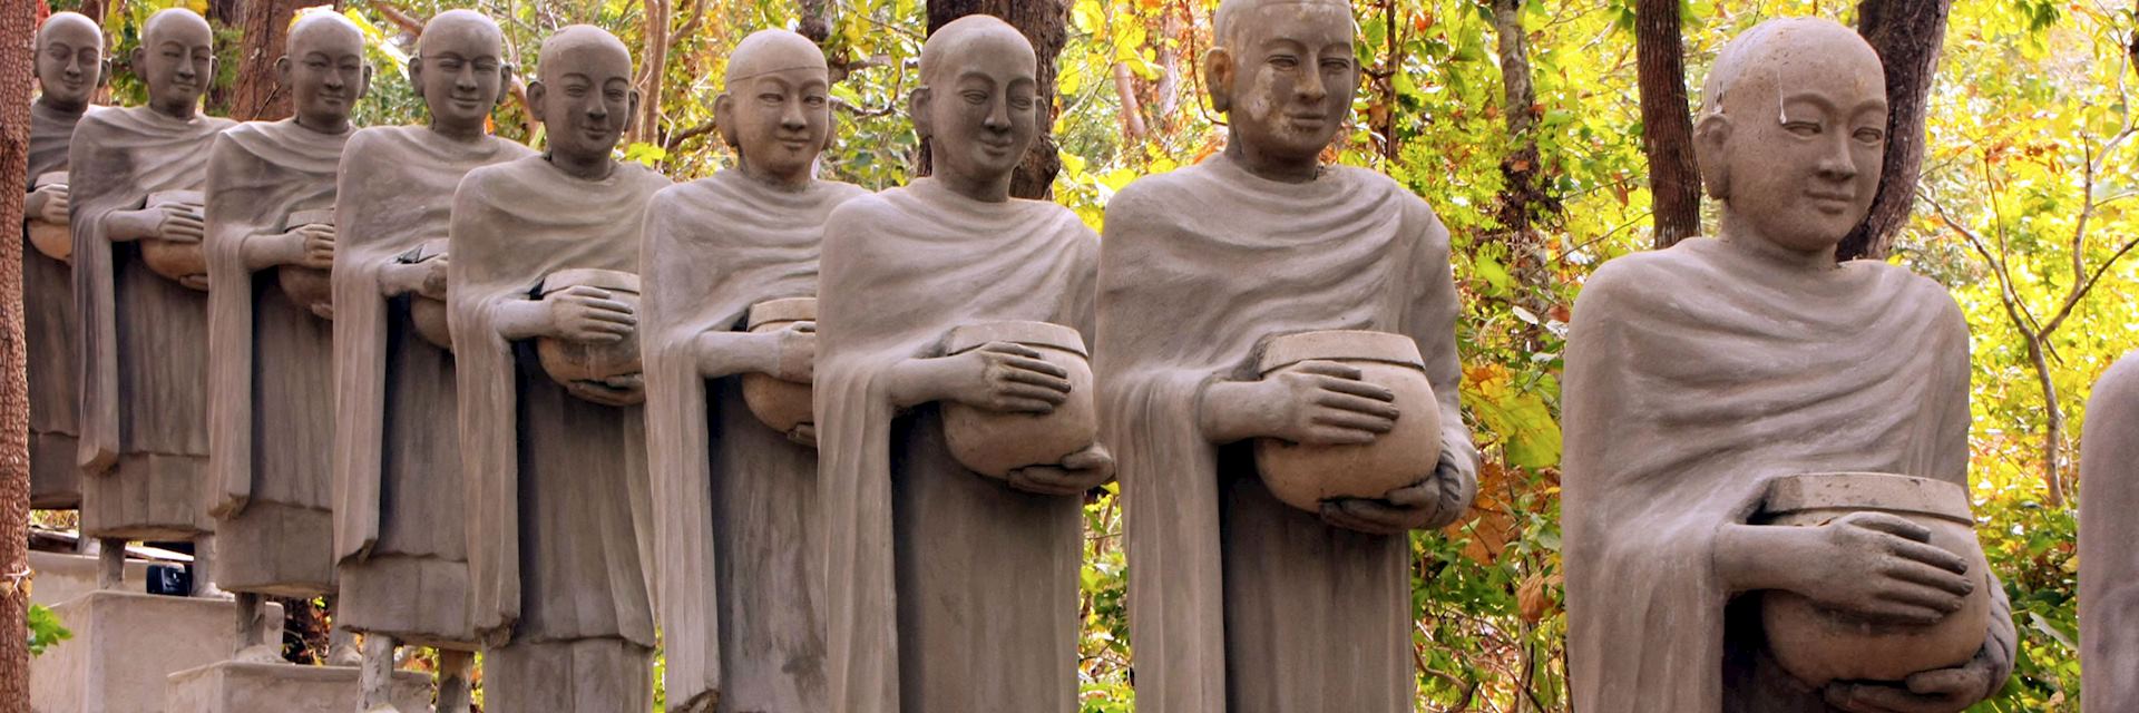
{"type": "Polygon", "coordinates": [[[513,69],[505,62],[505,34],[475,11],[445,11],[424,24],[409,84],[424,92],[430,126],[456,135],[483,133],[483,120],[498,105],[513,69]]]}

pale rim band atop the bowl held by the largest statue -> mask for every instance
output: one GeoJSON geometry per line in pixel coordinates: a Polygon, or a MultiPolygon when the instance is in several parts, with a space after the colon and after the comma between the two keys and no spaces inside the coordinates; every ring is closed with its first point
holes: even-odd
{"type": "Polygon", "coordinates": [[[1968,510],[1968,488],[1944,480],[1891,473],[1801,473],[1767,484],[1763,514],[1782,516],[1803,510],[1876,510],[1976,522],[1968,510]]]}

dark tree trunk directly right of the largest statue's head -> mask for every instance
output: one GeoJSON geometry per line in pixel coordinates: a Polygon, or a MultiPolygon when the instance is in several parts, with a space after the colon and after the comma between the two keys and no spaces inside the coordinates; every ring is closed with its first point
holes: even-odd
{"type": "Polygon", "coordinates": [[[1917,178],[1923,171],[1923,120],[1929,116],[1932,79],[1946,43],[1946,11],[1953,0],[1863,0],[1857,32],[1878,49],[1887,66],[1887,158],[1872,214],[1857,225],[1837,259],[1882,259],[1893,236],[1917,208],[1917,178]]]}

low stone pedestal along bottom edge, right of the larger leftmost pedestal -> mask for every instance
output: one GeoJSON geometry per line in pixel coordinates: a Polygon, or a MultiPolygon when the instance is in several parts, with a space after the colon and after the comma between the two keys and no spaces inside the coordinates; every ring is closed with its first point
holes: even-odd
{"type": "MultiPolygon", "coordinates": [[[[237,664],[171,674],[165,713],[351,713],[361,698],[355,666],[237,664]]],[[[394,707],[430,711],[430,677],[394,672],[394,707]]]]}

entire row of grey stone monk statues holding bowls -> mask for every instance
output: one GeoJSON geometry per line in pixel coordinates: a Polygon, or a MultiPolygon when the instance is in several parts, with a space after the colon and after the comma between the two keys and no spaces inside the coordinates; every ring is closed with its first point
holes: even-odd
{"type": "MultiPolygon", "coordinates": [[[[672,184],[612,158],[637,96],[597,28],[541,47],[535,154],[483,133],[511,69],[475,13],[419,36],[430,124],[361,131],[361,36],[334,15],[291,30],[295,118],[248,124],[197,113],[197,15],[150,19],[130,109],[88,107],[103,39],[58,15],[28,210],[39,503],[79,471],[88,535],[214,531],[242,617],[340,593],[368,709],[424,644],[441,711],[468,707],[475,649],[490,711],[646,711],[659,625],[676,711],[1074,711],[1080,495],[1119,475],[1142,711],[1410,711],[1407,533],[1465,514],[1478,471],[1450,238],[1320,163],[1360,81],[1348,4],[1226,0],[1215,30],[1226,152],[1121,191],[1099,240],[1010,197],[1048,111],[990,17],[922,49],[935,176],[868,195],[815,178],[828,71],[791,32],[729,58],[738,165],[672,184]]],[[[1855,32],[1754,28],[1698,118],[1720,236],[1587,285],[1579,709],[1961,711],[2011,674],[1968,516],[1966,323],[1925,278],[1833,259],[1884,131],[1855,32]]],[[[2083,456],[2090,711],[2139,700],[2118,375],[2083,456]]]]}

